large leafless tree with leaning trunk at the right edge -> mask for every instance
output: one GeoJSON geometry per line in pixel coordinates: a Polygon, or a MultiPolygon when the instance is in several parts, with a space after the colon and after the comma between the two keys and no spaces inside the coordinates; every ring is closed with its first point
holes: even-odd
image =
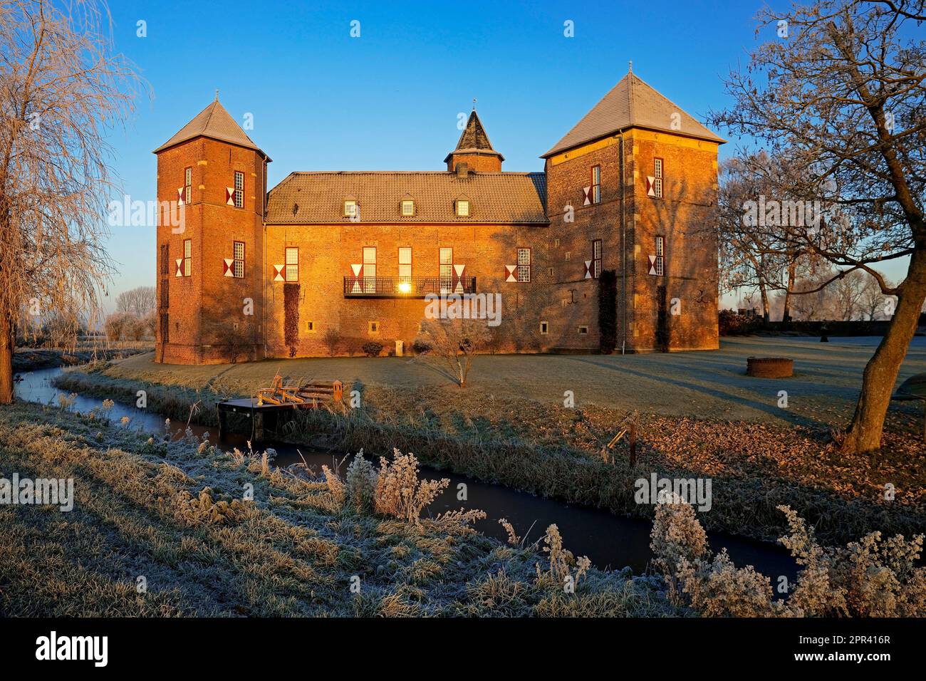
{"type": "Polygon", "coordinates": [[[838,273],[867,271],[895,314],[865,368],[843,440],[850,451],[880,448],[900,363],[926,299],[926,47],[924,0],[817,0],[776,14],[757,32],[769,39],[735,69],[735,104],[710,118],[794,158],[795,195],[818,197],[839,213],[819,229],[788,236],[838,273]],[[889,285],[873,266],[908,259],[889,285]]]}

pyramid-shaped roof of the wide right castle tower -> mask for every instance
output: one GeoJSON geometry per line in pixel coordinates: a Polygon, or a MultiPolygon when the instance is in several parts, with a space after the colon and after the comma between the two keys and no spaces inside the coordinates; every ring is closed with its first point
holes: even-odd
{"type": "Polygon", "coordinates": [[[707,130],[693,116],[685,113],[682,107],[660,95],[656,89],[633,73],[628,73],[541,158],[632,127],[671,132],[720,145],[726,142],[719,135],[707,130]],[[677,129],[672,128],[672,114],[675,113],[680,117],[680,126],[677,129]]]}

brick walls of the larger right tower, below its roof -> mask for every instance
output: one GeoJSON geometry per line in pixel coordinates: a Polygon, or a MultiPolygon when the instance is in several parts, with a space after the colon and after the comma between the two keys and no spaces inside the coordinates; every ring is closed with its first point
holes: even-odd
{"type": "Polygon", "coordinates": [[[592,259],[593,241],[600,239],[602,270],[618,273],[618,348],[626,337],[627,351],[658,349],[659,286],[666,287],[669,349],[716,348],[717,241],[710,227],[717,206],[717,145],[641,130],[626,132],[623,145],[626,278],[619,137],[547,159],[550,265],[554,296],[560,302],[558,310],[547,310],[552,347],[589,351],[599,347],[597,282],[583,276],[584,262],[592,259]],[[653,174],[656,157],[663,158],[666,175],[661,199],[646,194],[646,176],[653,174]],[[596,165],[601,167],[601,201],[583,206],[582,189],[592,184],[596,165]],[[565,220],[567,206],[573,208],[572,222],[565,220]],[[655,255],[657,234],[666,238],[667,265],[661,277],[648,274],[648,256],[655,255]],[[672,309],[679,314],[671,314],[672,309]],[[589,333],[579,334],[580,326],[587,326],[589,333]]]}

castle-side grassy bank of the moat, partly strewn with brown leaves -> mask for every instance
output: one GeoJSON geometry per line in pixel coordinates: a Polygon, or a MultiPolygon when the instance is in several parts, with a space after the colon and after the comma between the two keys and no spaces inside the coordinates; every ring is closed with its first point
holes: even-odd
{"type": "MultiPolygon", "coordinates": [[[[118,367],[116,368],[118,370],[118,367]]],[[[68,372],[60,387],[134,400],[148,392],[150,409],[215,423],[219,399],[242,397],[210,380],[201,389],[152,385],[106,375],[106,366],[68,372]],[[196,417],[194,417],[196,418],[196,417]]],[[[780,505],[807,518],[820,541],[842,544],[874,530],[911,536],[926,526],[926,470],[921,442],[902,432],[871,456],[842,454],[823,428],[784,429],[756,422],[713,422],[642,415],[638,460],[626,441],[606,460],[602,448],[625,414],[597,407],[563,409],[525,398],[486,396],[448,386],[409,392],[355,385],[362,407],[304,415],[287,429],[297,444],[388,455],[413,451],[423,462],[455,473],[616,513],[651,518],[634,500],[633,483],[659,476],[709,477],[713,503],[699,513],[708,529],[774,540],[787,531],[780,505]],[[884,498],[886,485],[895,498],[884,498]]]]}

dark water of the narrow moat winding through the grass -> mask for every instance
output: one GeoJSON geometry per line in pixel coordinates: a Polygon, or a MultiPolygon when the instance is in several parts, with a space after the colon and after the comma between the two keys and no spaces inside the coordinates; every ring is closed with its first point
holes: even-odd
{"type": "MultiPolygon", "coordinates": [[[[57,405],[57,396],[65,391],[52,385],[51,380],[59,372],[60,369],[44,369],[21,374],[23,380],[17,384],[17,397],[57,405]]],[[[81,412],[99,410],[101,402],[102,399],[99,397],[78,395],[70,409],[81,412]]],[[[165,432],[164,417],[152,410],[137,409],[132,405],[116,402],[108,413],[112,422],[119,422],[123,416],[128,416],[131,419],[129,427],[132,429],[147,433],[165,432]]],[[[185,429],[185,423],[171,423],[171,432],[175,437],[181,436],[185,429]]],[[[217,428],[191,425],[190,430],[197,437],[209,433],[209,441],[224,450],[235,447],[247,449],[246,438],[243,435],[227,435],[219,442],[217,428]]],[[[281,467],[305,460],[310,468],[320,473],[322,464],[330,467],[340,464],[345,467],[349,462],[345,460],[344,453],[332,456],[329,452],[301,447],[297,449],[284,443],[274,444],[272,447],[277,451],[275,463],[281,467]]],[[[476,527],[487,536],[506,539],[505,529],[498,524],[499,518],[506,518],[514,525],[518,535],[526,536],[529,542],[543,536],[547,525],[557,523],[565,547],[577,556],[588,556],[596,567],[607,569],[626,565],[630,566],[635,574],[640,574],[652,558],[649,549],[651,523],[648,521],[624,518],[607,511],[566,504],[555,499],[534,497],[505,486],[481,483],[427,466],[421,467],[421,473],[426,477],[450,480],[450,486],[429,507],[430,513],[436,515],[461,507],[482,509],[488,517],[476,523],[476,527]],[[457,500],[459,484],[466,486],[465,502],[457,500]]],[[[720,550],[726,547],[734,563],[739,566],[754,565],[759,572],[771,578],[772,586],[777,585],[778,576],[782,574],[787,575],[789,582],[794,581],[795,561],[782,547],[723,533],[708,533],[708,537],[712,549],[720,550]]]]}

